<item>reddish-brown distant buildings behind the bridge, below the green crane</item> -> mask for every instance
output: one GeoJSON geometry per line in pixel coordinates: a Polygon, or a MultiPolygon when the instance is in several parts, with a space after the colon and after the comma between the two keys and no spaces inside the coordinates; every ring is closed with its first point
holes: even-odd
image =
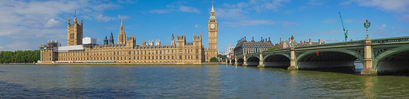
{"type": "Polygon", "coordinates": [[[310,39],[309,42],[300,41],[299,43],[297,43],[296,40],[291,41],[291,38],[288,38],[288,41],[282,41],[282,38],[280,38],[280,43],[276,44],[276,49],[302,47],[302,46],[317,45],[317,44],[325,44],[325,41],[321,43],[321,39],[318,39],[318,42],[311,42],[311,39],[310,39]]]}

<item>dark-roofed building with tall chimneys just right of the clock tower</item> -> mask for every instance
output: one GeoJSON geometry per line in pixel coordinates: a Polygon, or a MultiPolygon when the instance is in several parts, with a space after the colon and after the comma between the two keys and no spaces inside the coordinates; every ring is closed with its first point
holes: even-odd
{"type": "Polygon", "coordinates": [[[233,49],[234,56],[239,56],[243,54],[248,54],[248,53],[254,53],[254,52],[260,52],[267,50],[268,48],[273,48],[274,44],[271,43],[270,37],[268,37],[264,40],[263,37],[261,37],[261,40],[256,42],[254,41],[254,37],[252,37],[252,40],[250,42],[247,42],[246,37],[240,39],[237,41],[236,47],[233,49]]]}

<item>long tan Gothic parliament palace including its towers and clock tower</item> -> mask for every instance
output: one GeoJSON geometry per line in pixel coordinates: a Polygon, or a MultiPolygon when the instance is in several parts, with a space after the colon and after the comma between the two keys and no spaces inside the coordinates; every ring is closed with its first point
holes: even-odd
{"type": "Polygon", "coordinates": [[[193,33],[193,41],[186,42],[186,34],[172,34],[170,45],[149,44],[146,41],[136,45],[136,36],[127,35],[123,20],[114,44],[112,32],[110,39],[105,36],[102,45],[96,39],[83,38],[82,17],[77,22],[75,14],[73,23],[68,17],[68,46],[61,46],[58,41],[40,44],[41,63],[173,63],[202,64],[217,57],[217,20],[212,9],[208,19],[208,48],[202,43],[202,33],[193,33]]]}

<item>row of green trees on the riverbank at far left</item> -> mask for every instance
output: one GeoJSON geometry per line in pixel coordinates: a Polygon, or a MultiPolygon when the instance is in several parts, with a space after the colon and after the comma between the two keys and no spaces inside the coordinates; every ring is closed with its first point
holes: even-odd
{"type": "Polygon", "coordinates": [[[3,51],[0,53],[0,63],[32,63],[40,60],[40,50],[3,51]]]}

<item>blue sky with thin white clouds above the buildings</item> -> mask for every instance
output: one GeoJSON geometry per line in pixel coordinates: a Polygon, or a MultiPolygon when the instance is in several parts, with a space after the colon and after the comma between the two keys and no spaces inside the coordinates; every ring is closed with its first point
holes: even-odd
{"type": "Polygon", "coordinates": [[[213,6],[218,22],[217,48],[221,54],[241,37],[270,37],[273,44],[291,35],[297,42],[325,43],[366,37],[364,21],[371,21],[370,39],[409,36],[409,0],[0,0],[0,50],[37,50],[40,43],[58,40],[67,46],[68,17],[83,18],[83,37],[103,44],[114,41],[124,21],[136,44],[160,39],[170,45],[172,33],[202,33],[208,47],[207,21],[213,6]]]}

